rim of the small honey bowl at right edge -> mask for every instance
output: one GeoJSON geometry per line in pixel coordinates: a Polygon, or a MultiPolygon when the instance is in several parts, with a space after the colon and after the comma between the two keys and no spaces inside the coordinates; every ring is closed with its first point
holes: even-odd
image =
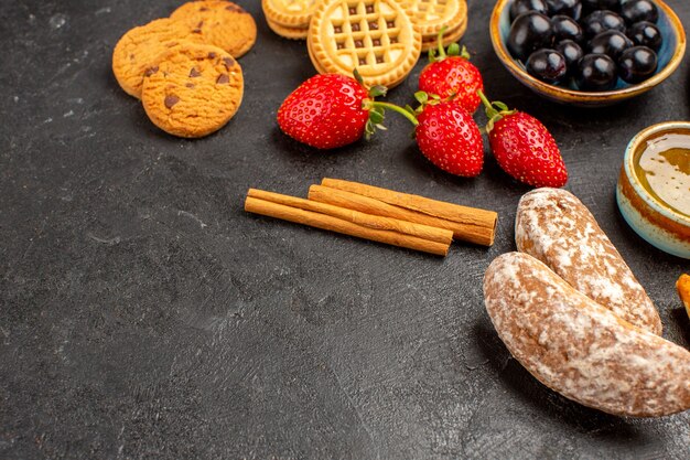
{"type": "Polygon", "coordinates": [[[671,221],[678,222],[681,225],[684,225],[690,228],[690,216],[686,214],[681,214],[679,211],[673,210],[667,204],[659,202],[659,200],[655,199],[640,183],[637,173],[635,172],[635,153],[637,152],[640,145],[649,139],[651,136],[655,136],[659,132],[668,131],[671,129],[684,129],[688,130],[690,135],[690,121],[664,121],[656,125],[648,126],[643,129],[638,133],[636,133],[633,139],[628,142],[625,148],[625,156],[623,157],[623,168],[625,171],[625,175],[627,176],[628,182],[633,186],[635,193],[654,211],[659,214],[668,217],[671,221]]]}

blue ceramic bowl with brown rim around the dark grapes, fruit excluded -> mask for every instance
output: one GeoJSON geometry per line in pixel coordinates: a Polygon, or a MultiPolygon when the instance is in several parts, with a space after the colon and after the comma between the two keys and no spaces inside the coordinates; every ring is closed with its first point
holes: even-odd
{"type": "Polygon", "coordinates": [[[574,85],[549,85],[527,73],[525,65],[513,58],[506,46],[510,33],[510,3],[513,0],[498,0],[490,20],[490,36],[496,55],[520,83],[547,99],[583,107],[606,106],[648,92],[668,78],[680,65],[686,52],[686,32],[682,23],[666,3],[654,0],[659,9],[657,26],[661,31],[664,45],[659,50],[657,73],[645,82],[632,85],[618,79],[616,87],[608,92],[581,92],[574,85]]]}

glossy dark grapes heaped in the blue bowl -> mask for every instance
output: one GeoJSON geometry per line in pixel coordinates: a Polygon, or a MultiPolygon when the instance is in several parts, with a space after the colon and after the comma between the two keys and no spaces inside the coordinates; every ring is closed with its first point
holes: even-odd
{"type": "Polygon", "coordinates": [[[656,73],[658,20],[653,0],[515,0],[507,45],[542,82],[605,92],[656,73]]]}

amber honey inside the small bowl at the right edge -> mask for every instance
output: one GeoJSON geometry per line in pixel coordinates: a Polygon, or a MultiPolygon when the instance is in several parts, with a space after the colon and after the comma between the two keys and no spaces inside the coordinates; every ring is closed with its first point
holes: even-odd
{"type": "Polygon", "coordinates": [[[634,167],[656,201],[690,217],[690,131],[666,131],[648,139],[634,167]]]}

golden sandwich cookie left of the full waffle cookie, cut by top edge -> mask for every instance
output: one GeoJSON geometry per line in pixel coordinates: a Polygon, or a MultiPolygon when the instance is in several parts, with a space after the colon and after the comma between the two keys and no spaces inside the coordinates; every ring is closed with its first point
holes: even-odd
{"type": "Polygon", "coordinates": [[[261,0],[266,22],[278,35],[304,40],[316,0],[261,0]]]}

